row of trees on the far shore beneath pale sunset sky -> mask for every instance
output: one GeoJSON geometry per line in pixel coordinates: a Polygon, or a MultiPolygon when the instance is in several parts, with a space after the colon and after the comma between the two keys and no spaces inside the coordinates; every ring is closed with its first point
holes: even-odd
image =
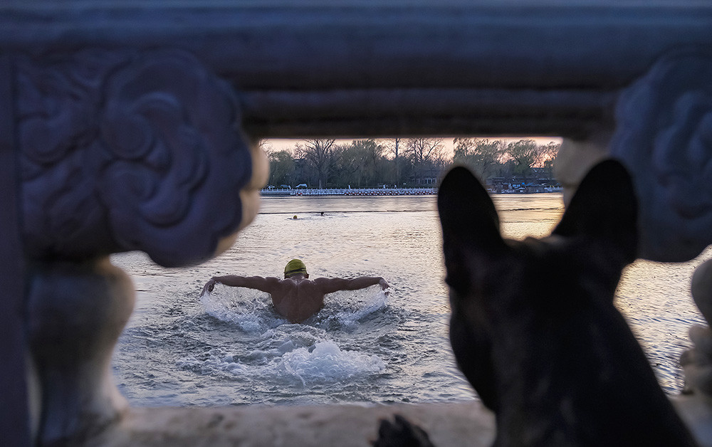
{"type": "Polygon", "coordinates": [[[452,153],[443,138],[389,140],[303,140],[290,150],[260,142],[270,163],[268,184],[275,188],[433,186],[450,164],[466,164],[481,179],[533,182],[552,179],[559,144],[535,140],[455,138],[452,153]]]}

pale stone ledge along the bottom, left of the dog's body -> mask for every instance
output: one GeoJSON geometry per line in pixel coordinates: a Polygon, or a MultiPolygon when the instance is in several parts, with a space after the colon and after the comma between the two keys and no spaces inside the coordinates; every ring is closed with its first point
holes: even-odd
{"type": "Polygon", "coordinates": [[[88,446],[367,447],[379,419],[402,414],[436,446],[490,446],[494,416],[478,401],[454,404],[132,408],[88,446]]]}

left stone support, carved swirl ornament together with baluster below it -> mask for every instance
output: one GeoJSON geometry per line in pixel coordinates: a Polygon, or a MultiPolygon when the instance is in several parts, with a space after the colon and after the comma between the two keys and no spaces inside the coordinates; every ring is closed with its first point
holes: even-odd
{"type": "Polygon", "coordinates": [[[268,168],[234,90],[188,53],[12,63],[32,426],[39,445],[75,445],[127,408],[110,360],[134,292],[110,253],[164,266],[221,253],[256,216],[268,168]]]}

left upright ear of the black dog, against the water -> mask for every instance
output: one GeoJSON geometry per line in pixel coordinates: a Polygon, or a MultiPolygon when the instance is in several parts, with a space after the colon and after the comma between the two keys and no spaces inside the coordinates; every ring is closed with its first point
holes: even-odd
{"type": "Polygon", "coordinates": [[[438,191],[446,282],[463,293],[470,282],[468,257],[493,256],[504,245],[487,191],[465,167],[454,167],[438,191]]]}

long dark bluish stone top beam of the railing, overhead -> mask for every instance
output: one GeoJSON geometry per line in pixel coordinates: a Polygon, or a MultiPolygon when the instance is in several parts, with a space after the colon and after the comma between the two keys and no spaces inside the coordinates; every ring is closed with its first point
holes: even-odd
{"type": "Polygon", "coordinates": [[[187,51],[234,85],[256,136],[581,138],[662,54],[711,42],[711,22],[703,1],[12,0],[0,47],[187,51]]]}

